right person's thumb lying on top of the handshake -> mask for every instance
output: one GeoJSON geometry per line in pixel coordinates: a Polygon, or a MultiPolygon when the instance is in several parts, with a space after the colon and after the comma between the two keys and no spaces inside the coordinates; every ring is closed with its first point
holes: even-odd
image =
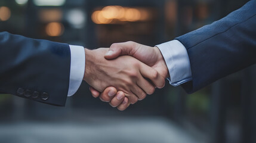
{"type": "Polygon", "coordinates": [[[109,51],[106,53],[106,59],[113,59],[119,55],[133,55],[137,51],[137,44],[135,42],[113,43],[109,51]]]}

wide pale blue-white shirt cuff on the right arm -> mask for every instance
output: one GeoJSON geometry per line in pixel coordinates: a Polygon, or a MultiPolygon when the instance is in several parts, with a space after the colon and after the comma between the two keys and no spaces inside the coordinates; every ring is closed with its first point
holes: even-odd
{"type": "Polygon", "coordinates": [[[192,80],[189,55],[185,46],[177,40],[156,45],[165,59],[169,70],[169,83],[178,86],[192,80]]]}

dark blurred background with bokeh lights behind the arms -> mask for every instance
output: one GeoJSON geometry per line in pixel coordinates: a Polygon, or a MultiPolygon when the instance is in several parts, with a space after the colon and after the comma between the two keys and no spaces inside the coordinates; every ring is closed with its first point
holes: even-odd
{"type": "MultiPolygon", "coordinates": [[[[246,2],[1,0],[0,31],[90,49],[125,41],[154,46],[246,2]]],[[[1,95],[0,142],[256,142],[255,71],[249,67],[192,95],[166,83],[125,111],[92,98],[87,83],[66,107],[1,95]]]]}

